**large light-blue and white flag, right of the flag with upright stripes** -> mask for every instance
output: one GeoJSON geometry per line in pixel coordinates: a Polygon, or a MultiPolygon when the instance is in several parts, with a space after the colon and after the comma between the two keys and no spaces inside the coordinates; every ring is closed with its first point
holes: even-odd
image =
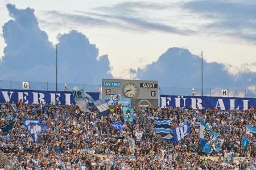
{"type": "Polygon", "coordinates": [[[223,140],[218,139],[218,133],[210,129],[203,120],[200,121],[200,146],[203,147],[203,152],[209,153],[213,149],[215,151],[220,151],[223,140]]]}

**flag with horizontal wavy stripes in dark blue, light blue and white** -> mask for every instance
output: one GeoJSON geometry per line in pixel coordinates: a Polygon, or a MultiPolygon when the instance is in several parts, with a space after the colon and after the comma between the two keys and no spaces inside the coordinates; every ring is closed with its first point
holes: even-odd
{"type": "Polygon", "coordinates": [[[155,120],[155,132],[160,135],[170,134],[171,121],[170,120],[155,120]]]}

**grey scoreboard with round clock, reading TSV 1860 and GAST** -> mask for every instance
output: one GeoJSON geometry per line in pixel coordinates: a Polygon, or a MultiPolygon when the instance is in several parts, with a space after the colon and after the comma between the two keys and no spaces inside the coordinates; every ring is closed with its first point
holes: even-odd
{"type": "Polygon", "coordinates": [[[158,106],[158,81],[102,79],[101,94],[102,99],[108,99],[112,94],[119,94],[121,104],[155,107],[158,106]]]}

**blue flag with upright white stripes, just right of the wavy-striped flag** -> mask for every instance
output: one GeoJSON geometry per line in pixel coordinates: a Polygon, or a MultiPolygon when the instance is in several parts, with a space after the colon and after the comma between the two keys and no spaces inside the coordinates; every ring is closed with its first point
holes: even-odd
{"type": "Polygon", "coordinates": [[[180,141],[186,135],[190,134],[190,125],[184,124],[176,128],[172,128],[172,133],[174,133],[174,141],[180,141]]]}

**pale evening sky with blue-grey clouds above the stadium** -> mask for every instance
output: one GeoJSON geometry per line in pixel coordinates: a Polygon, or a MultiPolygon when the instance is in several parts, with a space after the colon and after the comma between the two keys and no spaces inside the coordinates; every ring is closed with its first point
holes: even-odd
{"type": "Polygon", "coordinates": [[[62,82],[200,87],[203,51],[206,87],[255,89],[255,1],[1,0],[0,15],[3,80],[54,82],[59,43],[62,82]]]}

